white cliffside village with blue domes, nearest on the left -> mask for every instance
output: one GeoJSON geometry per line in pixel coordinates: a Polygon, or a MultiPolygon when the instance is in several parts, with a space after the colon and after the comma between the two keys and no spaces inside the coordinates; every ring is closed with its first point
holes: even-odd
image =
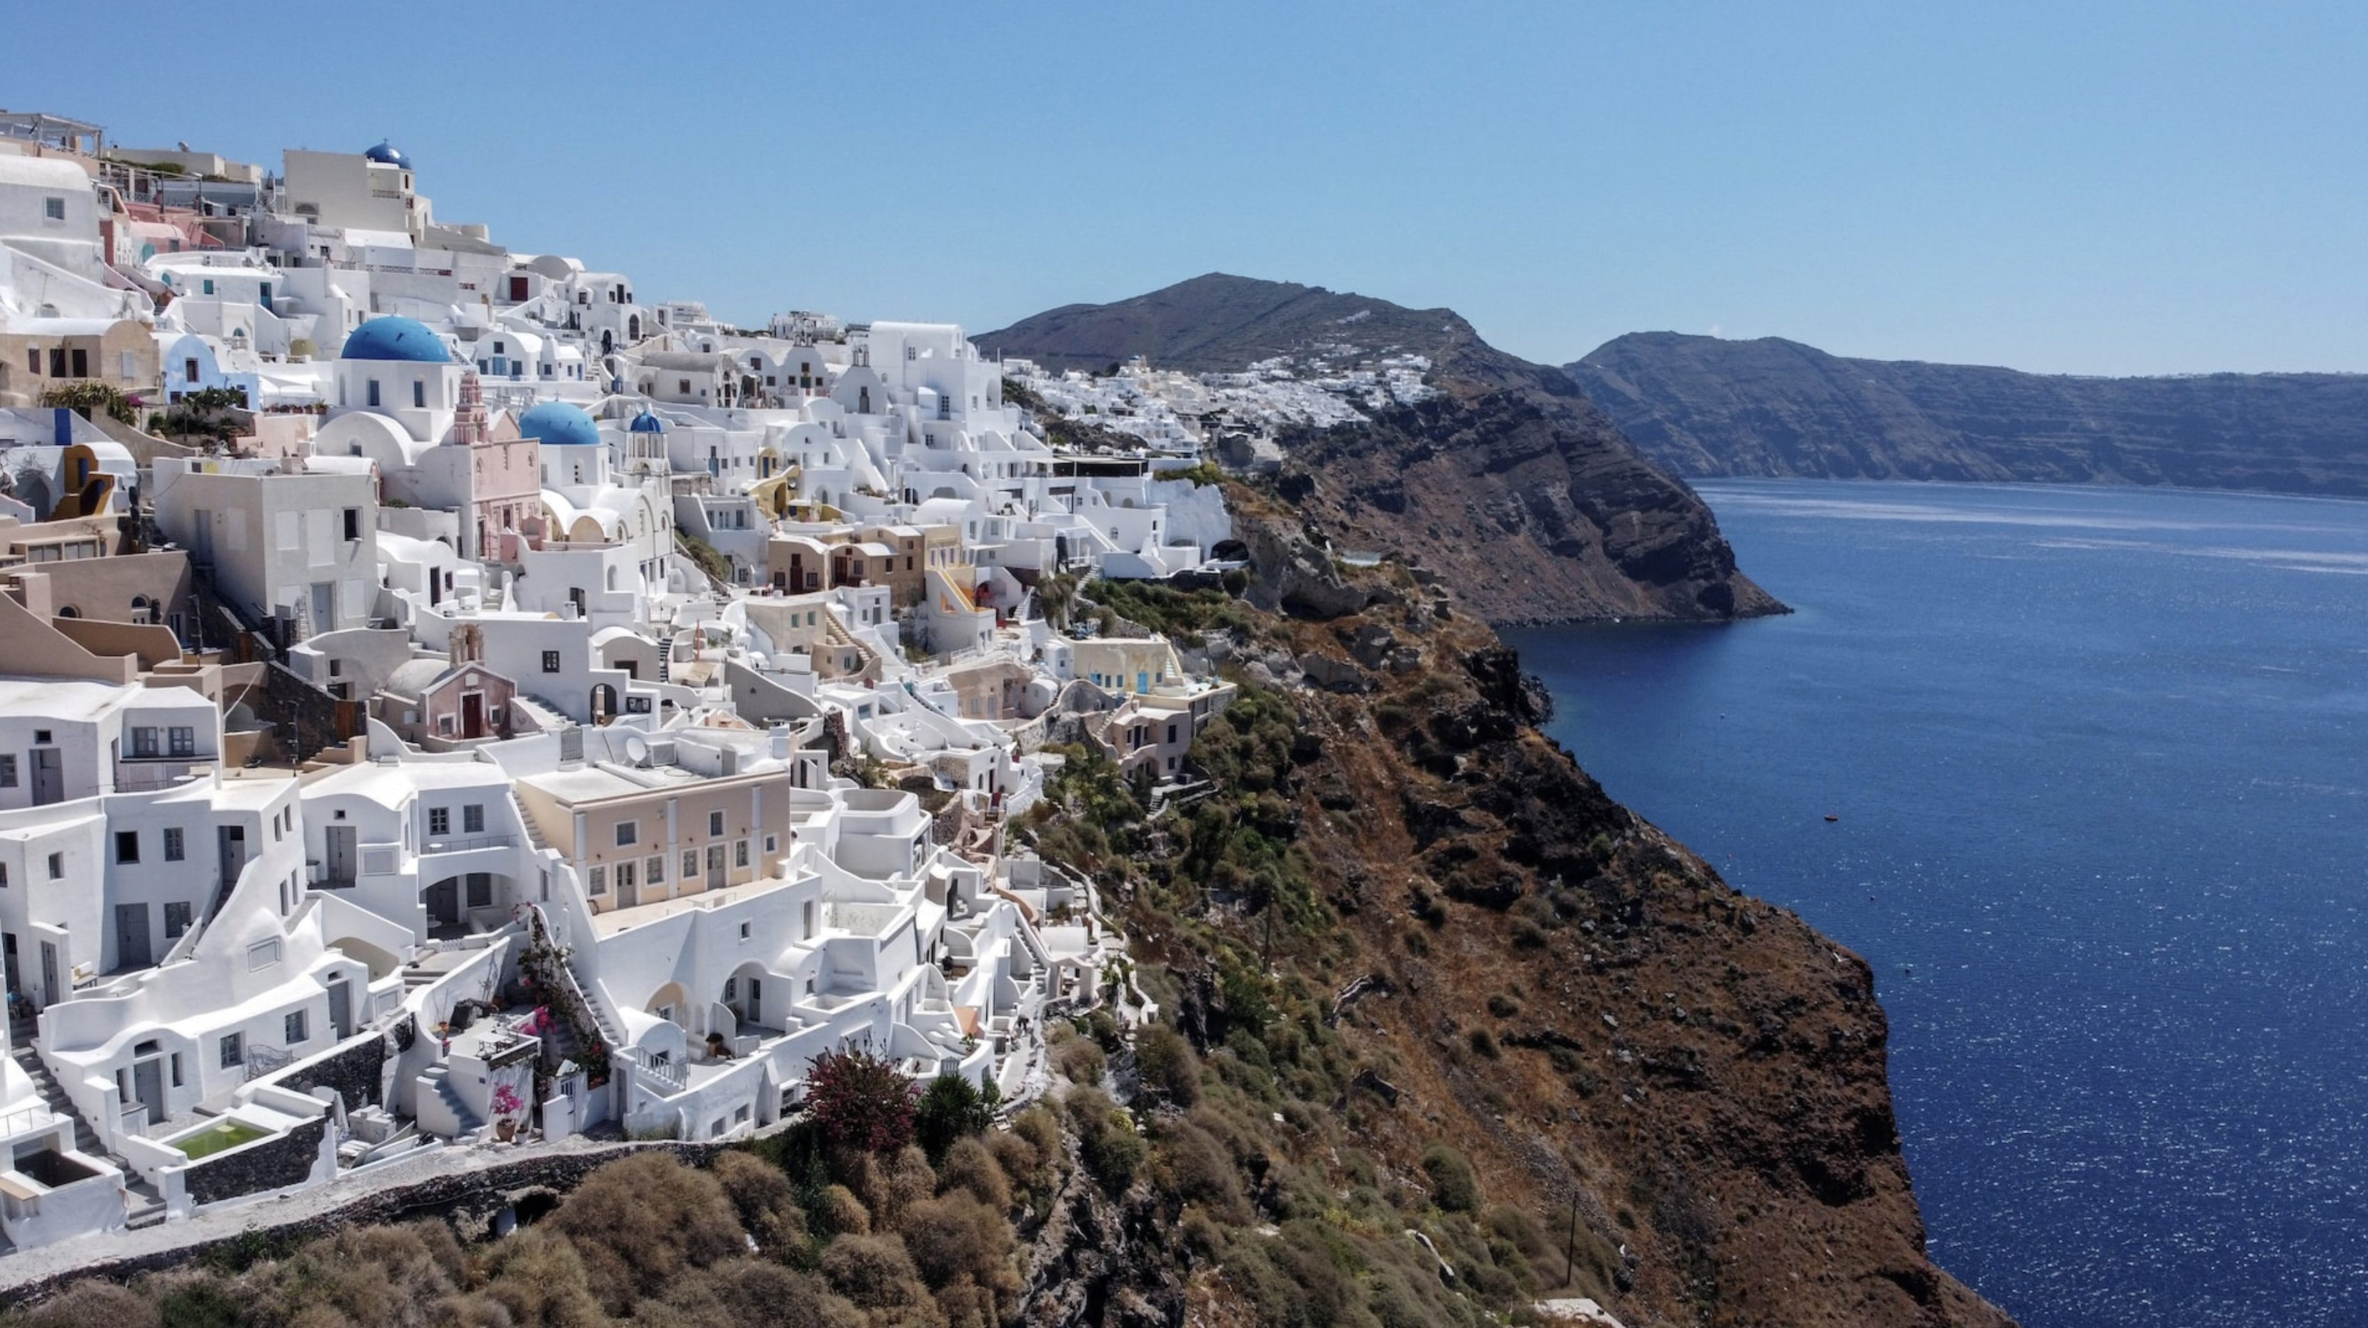
{"type": "Polygon", "coordinates": [[[9,1248],[729,1139],[831,1049],[1035,1091],[1120,945],[1011,836],[1047,748],[1175,786],[1234,694],[1037,594],[1231,530],[1198,419],[1070,455],[1006,372],[1068,381],[644,303],[388,144],[0,114],[9,1248]]]}

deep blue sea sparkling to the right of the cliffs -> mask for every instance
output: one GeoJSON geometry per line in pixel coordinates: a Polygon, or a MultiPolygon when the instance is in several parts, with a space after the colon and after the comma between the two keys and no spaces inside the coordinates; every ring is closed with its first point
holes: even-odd
{"type": "Polygon", "coordinates": [[[2368,1323],[2368,504],[1698,488],[1797,613],[1508,637],[1873,963],[1932,1257],[2029,1328],[2368,1323]]]}

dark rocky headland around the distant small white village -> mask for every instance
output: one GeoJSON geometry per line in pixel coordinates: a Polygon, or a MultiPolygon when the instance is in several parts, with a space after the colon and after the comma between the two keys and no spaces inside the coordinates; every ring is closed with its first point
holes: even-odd
{"type": "Polygon", "coordinates": [[[1639,457],[1558,369],[1489,348],[1452,310],[1208,275],[976,341],[1085,369],[1132,355],[1191,372],[1279,355],[1428,355],[1437,398],[1281,438],[1281,488],[1336,549],[1414,556],[1492,623],[1783,611],[1736,570],[1693,490],[1639,457]]]}

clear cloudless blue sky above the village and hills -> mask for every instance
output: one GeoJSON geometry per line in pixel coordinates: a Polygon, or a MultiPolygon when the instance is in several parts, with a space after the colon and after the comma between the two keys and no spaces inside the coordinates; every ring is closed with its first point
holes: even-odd
{"type": "MultiPolygon", "coordinates": [[[[727,320],[1210,270],[2039,372],[2368,372],[2368,5],[69,5],[9,109],[412,154],[727,320]]],[[[24,54],[33,59],[24,59],[24,54]]]]}

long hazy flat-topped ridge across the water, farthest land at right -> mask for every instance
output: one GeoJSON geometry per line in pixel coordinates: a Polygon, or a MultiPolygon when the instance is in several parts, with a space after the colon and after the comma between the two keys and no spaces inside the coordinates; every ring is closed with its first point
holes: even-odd
{"type": "Polygon", "coordinates": [[[1681,476],[2368,495],[2368,374],[2072,379],[1674,331],[1563,372],[1681,476]]]}

